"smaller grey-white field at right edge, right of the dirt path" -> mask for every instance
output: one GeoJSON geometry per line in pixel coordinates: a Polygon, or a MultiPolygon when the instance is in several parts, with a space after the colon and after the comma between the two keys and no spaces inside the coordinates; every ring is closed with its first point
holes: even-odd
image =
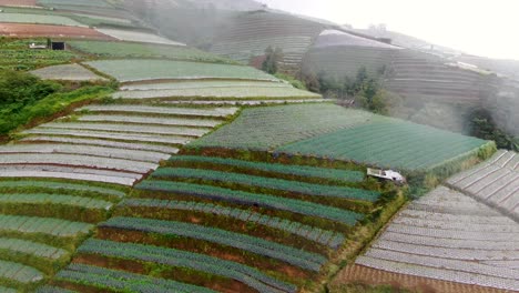
{"type": "Polygon", "coordinates": [[[519,154],[500,151],[447,184],[519,221],[519,154]]]}

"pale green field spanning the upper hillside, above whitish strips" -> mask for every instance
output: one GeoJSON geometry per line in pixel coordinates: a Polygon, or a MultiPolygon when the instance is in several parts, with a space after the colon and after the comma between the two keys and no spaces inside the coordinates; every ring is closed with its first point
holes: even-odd
{"type": "Polygon", "coordinates": [[[167,60],[103,60],[86,63],[96,70],[114,77],[120,82],[144,80],[196,80],[236,79],[277,81],[260,70],[226,64],[210,64],[167,60]]]}

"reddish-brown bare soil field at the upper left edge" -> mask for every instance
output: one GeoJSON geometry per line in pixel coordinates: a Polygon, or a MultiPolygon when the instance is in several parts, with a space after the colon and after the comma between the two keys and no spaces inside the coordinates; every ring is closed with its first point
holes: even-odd
{"type": "Polygon", "coordinates": [[[0,36],[18,38],[51,37],[114,40],[112,37],[89,28],[28,23],[0,23],[0,36]]]}

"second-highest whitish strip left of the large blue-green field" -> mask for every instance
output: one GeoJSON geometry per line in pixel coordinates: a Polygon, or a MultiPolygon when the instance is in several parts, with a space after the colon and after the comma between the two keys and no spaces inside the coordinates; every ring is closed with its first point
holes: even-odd
{"type": "Polygon", "coordinates": [[[195,127],[195,128],[214,128],[222,123],[222,121],[220,120],[212,120],[212,119],[152,118],[152,117],[116,115],[116,114],[82,115],[78,118],[78,121],[157,124],[157,125],[195,127]]]}

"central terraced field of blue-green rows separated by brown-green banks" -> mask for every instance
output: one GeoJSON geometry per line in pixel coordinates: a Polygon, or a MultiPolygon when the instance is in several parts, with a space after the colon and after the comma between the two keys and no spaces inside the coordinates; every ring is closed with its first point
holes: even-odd
{"type": "Polygon", "coordinates": [[[189,292],[297,292],[385,204],[380,191],[360,188],[358,171],[192,155],[163,165],[52,285],[113,290],[142,280],[189,292]]]}

